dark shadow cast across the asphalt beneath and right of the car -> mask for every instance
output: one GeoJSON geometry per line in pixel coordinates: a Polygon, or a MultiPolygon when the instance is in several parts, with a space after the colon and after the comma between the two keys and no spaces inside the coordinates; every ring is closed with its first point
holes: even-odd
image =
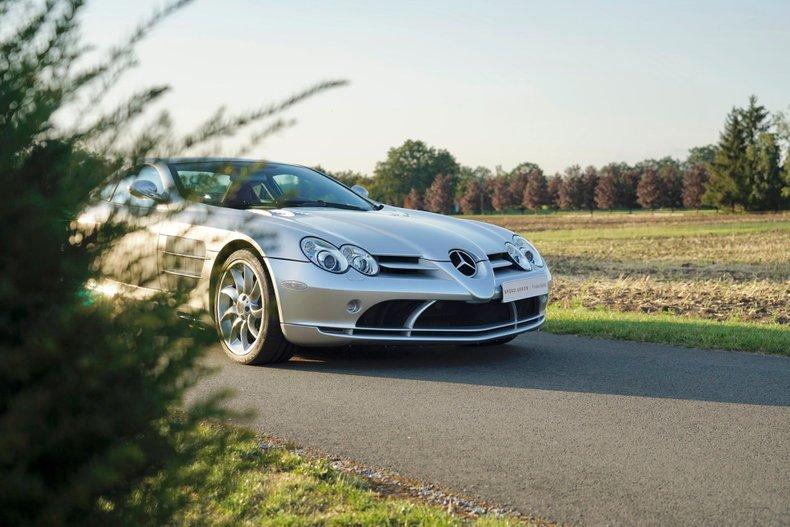
{"type": "Polygon", "coordinates": [[[790,406],[786,357],[532,334],[504,346],[314,349],[277,368],[481,386],[790,406]]]}

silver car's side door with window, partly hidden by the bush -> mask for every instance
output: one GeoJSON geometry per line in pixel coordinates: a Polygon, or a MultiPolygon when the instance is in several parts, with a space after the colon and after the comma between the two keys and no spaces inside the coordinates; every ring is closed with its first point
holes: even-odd
{"type": "Polygon", "coordinates": [[[157,192],[166,195],[162,175],[153,165],[141,165],[120,180],[110,200],[112,210],[108,220],[118,229],[118,235],[102,258],[101,270],[105,276],[122,284],[159,290],[159,224],[168,207],[153,199],[132,195],[130,187],[139,180],[152,182],[157,192]]]}

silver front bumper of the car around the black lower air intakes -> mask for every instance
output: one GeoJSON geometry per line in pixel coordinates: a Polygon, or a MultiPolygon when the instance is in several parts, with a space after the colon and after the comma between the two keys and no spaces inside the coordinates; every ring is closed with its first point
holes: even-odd
{"type": "Polygon", "coordinates": [[[523,314],[518,313],[513,304],[512,318],[484,324],[467,325],[462,321],[453,324],[449,321],[446,326],[421,328],[414,324],[419,313],[408,317],[403,325],[397,327],[360,326],[358,322],[367,309],[381,302],[415,301],[415,312],[429,309],[437,301],[501,304],[503,282],[537,276],[551,280],[551,274],[545,268],[495,274],[488,262],[481,262],[481,265],[488,266],[488,276],[493,277],[490,299],[481,299],[461,280],[453,278],[451,269],[441,268],[438,262],[439,268],[434,273],[414,276],[380,274],[375,277],[363,276],[353,270],[335,275],[310,262],[268,259],[266,263],[273,277],[283,333],[290,342],[302,346],[474,344],[535,331],[545,321],[545,302],[539,309],[523,314]],[[359,309],[353,313],[347,309],[351,301],[359,304],[359,309]]]}

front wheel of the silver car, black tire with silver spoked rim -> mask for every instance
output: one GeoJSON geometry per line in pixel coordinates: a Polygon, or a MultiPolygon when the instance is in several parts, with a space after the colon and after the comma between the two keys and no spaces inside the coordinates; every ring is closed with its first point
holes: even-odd
{"type": "Polygon", "coordinates": [[[248,249],[231,253],[211,294],[214,326],[228,357],[242,364],[291,358],[296,346],[282,333],[274,289],[255,253],[248,249]]]}

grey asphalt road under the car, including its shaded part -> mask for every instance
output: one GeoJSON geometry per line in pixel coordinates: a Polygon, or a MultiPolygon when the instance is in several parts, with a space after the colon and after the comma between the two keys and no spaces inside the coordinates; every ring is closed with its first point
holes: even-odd
{"type": "Polygon", "coordinates": [[[531,334],[220,371],[254,426],[584,525],[790,524],[790,359],[531,334]]]}

